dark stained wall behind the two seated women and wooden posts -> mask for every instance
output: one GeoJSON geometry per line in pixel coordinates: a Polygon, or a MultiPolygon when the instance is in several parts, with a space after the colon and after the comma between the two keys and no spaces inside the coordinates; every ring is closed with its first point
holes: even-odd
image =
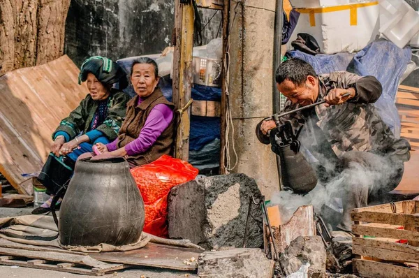
{"type": "MultiPolygon", "coordinates": [[[[202,26],[216,10],[199,9],[202,26]]],[[[80,66],[92,55],[121,59],[161,52],[170,44],[175,1],[72,0],[66,20],[65,53],[80,66]]],[[[203,43],[221,36],[221,11],[203,31],[203,43]]]]}

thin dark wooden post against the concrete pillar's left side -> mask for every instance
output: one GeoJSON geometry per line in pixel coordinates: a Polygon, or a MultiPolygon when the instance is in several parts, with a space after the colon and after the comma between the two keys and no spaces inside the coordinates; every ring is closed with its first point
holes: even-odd
{"type": "Polygon", "coordinates": [[[220,174],[226,174],[226,168],[224,167],[224,163],[226,161],[226,152],[224,152],[224,147],[226,147],[226,112],[227,112],[227,98],[226,91],[228,88],[226,87],[226,65],[230,61],[226,61],[226,52],[228,47],[228,24],[230,22],[230,0],[224,0],[223,6],[223,70],[221,72],[221,130],[220,130],[220,174]]]}

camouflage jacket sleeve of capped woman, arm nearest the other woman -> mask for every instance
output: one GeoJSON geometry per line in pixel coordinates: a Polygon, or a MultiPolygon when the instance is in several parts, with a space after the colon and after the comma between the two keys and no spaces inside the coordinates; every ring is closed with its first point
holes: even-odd
{"type": "Polygon", "coordinates": [[[103,124],[96,128],[96,130],[101,131],[109,140],[115,140],[118,136],[119,129],[125,118],[126,103],[129,99],[128,94],[124,92],[117,92],[110,99],[108,117],[105,118],[103,124]]]}

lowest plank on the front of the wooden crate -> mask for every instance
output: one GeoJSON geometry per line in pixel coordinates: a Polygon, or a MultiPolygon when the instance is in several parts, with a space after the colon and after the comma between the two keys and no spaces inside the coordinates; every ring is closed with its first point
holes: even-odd
{"type": "Polygon", "coordinates": [[[353,273],[366,278],[419,277],[419,270],[390,263],[379,263],[355,258],[352,260],[353,273]]]}

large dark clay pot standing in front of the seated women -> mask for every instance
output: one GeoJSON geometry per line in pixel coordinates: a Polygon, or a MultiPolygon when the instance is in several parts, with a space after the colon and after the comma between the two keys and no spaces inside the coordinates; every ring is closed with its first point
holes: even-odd
{"type": "Polygon", "coordinates": [[[144,202],[125,159],[75,164],[59,213],[59,239],[71,246],[115,246],[140,239],[144,202]]]}

